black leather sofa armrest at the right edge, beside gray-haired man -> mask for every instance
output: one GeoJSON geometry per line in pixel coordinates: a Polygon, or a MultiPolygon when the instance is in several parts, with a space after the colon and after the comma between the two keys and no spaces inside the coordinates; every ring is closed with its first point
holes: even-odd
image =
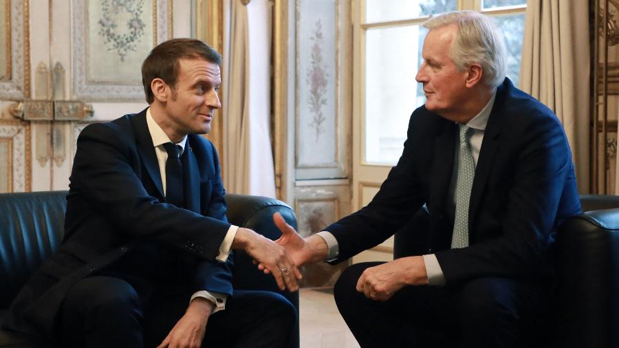
{"type": "Polygon", "coordinates": [[[558,347],[619,345],[619,209],[565,221],[556,238],[558,347]]]}

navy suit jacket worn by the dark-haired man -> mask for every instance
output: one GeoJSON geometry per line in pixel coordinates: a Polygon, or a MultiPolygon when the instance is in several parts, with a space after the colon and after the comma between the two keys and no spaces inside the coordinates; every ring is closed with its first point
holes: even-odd
{"type": "MultiPolygon", "coordinates": [[[[185,208],[165,201],[146,110],[90,124],[78,138],[58,252],[18,294],[4,327],[53,338],[65,292],[141,246],[156,244],[197,261],[188,287],[232,294],[232,261],[216,261],[230,224],[215,147],[188,135],[185,208]]],[[[147,267],[147,266],[146,266],[147,267]]]]}

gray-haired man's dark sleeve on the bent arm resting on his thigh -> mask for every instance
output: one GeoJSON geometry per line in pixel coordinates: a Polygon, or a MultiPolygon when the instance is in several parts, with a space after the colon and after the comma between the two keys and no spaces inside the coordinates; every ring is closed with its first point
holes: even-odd
{"type": "MultiPolygon", "coordinates": [[[[554,115],[534,118],[519,133],[514,173],[505,197],[497,237],[468,248],[441,250],[436,257],[447,283],[477,276],[526,277],[547,257],[556,230],[557,211],[566,186],[574,186],[572,157],[561,124],[554,115]]],[[[569,195],[577,194],[567,189],[569,195]]],[[[486,204],[488,206],[488,204],[486,204]]],[[[580,209],[572,204],[571,210],[580,209]]],[[[474,232],[474,231],[473,231],[474,232]]]]}

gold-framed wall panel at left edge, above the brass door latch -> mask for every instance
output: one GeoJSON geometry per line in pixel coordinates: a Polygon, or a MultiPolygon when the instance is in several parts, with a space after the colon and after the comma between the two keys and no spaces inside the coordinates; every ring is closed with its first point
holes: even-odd
{"type": "Polygon", "coordinates": [[[28,6],[28,0],[0,1],[2,99],[23,99],[30,96],[28,6]]]}

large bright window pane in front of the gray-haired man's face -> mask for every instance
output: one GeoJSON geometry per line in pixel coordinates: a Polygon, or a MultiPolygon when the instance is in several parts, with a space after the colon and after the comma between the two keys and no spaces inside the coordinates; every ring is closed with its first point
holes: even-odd
{"type": "Polygon", "coordinates": [[[394,163],[402,155],[409,117],[425,102],[415,74],[426,30],[418,25],[366,33],[365,161],[394,163]]]}

